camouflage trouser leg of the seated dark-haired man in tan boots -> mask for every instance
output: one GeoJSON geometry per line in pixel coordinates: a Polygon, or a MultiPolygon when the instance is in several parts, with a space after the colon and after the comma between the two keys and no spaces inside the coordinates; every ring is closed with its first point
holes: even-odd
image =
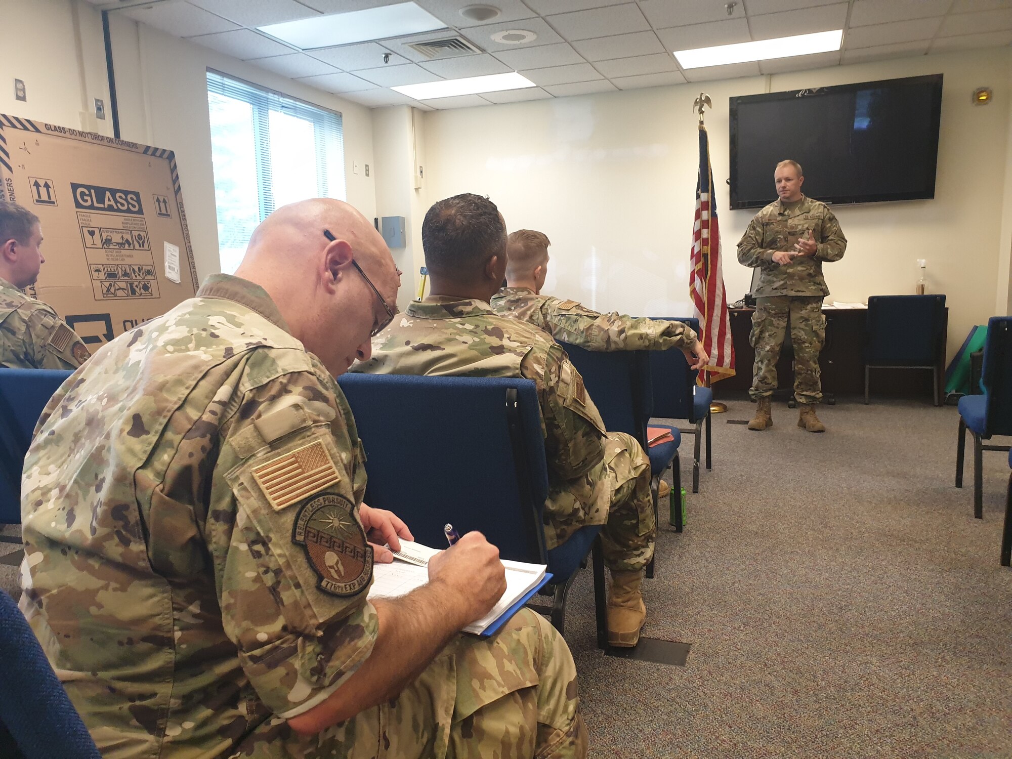
{"type": "Polygon", "coordinates": [[[609,432],[604,462],[611,480],[611,507],[601,530],[604,564],[611,570],[642,570],[654,556],[657,523],[650,493],[650,458],[636,438],[609,432]]]}

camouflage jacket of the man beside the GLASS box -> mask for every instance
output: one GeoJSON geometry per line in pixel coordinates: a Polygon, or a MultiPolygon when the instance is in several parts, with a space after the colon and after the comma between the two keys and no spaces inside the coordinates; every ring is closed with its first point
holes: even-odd
{"type": "Polygon", "coordinates": [[[89,355],[51,306],[0,278],[0,368],[76,369],[89,355]]]}

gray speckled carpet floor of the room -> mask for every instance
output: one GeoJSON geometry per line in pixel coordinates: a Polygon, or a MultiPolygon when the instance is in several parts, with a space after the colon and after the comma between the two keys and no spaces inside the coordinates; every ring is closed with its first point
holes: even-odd
{"type": "MultiPolygon", "coordinates": [[[[783,404],[765,432],[728,424],[754,408],[729,405],[685,531],[662,517],[645,583],[645,635],[691,644],[686,666],[604,656],[589,570],[571,591],[591,756],[1012,757],[1006,454],[985,452],[977,520],[972,457],[952,487],[952,407],[841,399],[816,435],[783,404]]],[[[14,569],[0,565],[7,590],[14,569]]]]}

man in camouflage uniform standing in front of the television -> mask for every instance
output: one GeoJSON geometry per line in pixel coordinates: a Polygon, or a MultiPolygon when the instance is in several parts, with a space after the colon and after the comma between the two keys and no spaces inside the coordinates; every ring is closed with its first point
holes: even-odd
{"type": "Polygon", "coordinates": [[[822,400],[819,353],[826,336],[822,302],[829,294],[822,265],[843,258],[847,238],[826,203],[802,194],[805,176],[799,164],[781,161],[774,180],[779,199],[755,215],[738,243],[738,260],[759,268],[749,338],[756,351],[749,395],[759,406],[749,429],[773,426],[770,396],[776,389],[776,360],[789,317],[794,398],[800,408],[797,426],[825,432],[815,412],[815,404],[822,400]]]}

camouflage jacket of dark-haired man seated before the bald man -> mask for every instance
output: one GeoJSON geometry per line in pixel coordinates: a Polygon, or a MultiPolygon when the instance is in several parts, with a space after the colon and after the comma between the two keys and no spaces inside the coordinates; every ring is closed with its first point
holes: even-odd
{"type": "Polygon", "coordinates": [[[372,338],[372,357],[351,370],[533,380],[549,465],[545,544],[554,549],[580,527],[607,520],[604,422],[566,351],[540,330],[482,301],[430,296],[395,317],[372,338]]]}

